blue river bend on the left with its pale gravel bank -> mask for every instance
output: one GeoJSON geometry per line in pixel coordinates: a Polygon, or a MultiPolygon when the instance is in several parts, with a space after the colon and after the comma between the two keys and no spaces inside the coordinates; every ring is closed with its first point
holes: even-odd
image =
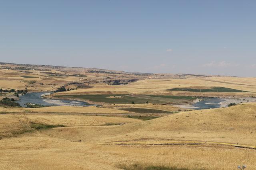
{"type": "Polygon", "coordinates": [[[42,96],[48,95],[50,92],[32,92],[20,96],[18,103],[22,107],[26,107],[26,103],[41,104],[44,106],[92,106],[86,102],[76,100],[55,100],[44,99],[42,96]]]}

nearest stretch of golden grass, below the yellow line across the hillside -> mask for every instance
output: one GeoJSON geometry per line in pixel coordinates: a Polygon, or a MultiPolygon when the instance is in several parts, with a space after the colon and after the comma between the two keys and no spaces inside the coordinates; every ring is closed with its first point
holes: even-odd
{"type": "Polygon", "coordinates": [[[117,147],[24,137],[0,141],[2,169],[119,169],[119,164],[153,164],[189,169],[256,168],[256,152],[230,147],[117,147]]]}

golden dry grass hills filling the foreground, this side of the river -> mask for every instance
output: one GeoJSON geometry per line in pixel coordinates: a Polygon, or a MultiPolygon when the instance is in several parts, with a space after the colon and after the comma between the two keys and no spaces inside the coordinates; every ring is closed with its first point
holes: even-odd
{"type": "Polygon", "coordinates": [[[4,169],[256,168],[256,150],[222,145],[115,145],[216,141],[255,146],[256,104],[186,111],[140,121],[75,114],[1,114],[4,169]],[[31,122],[65,127],[36,130],[31,122]],[[20,131],[20,133],[19,133],[20,131]]]}

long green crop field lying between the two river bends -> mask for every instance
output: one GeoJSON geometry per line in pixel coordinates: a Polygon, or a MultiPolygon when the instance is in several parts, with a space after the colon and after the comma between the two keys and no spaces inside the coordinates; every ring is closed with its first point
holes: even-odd
{"type": "Polygon", "coordinates": [[[194,98],[191,96],[154,96],[154,95],[130,95],[127,94],[102,94],[102,95],[61,95],[56,96],[60,98],[84,99],[92,102],[104,102],[110,104],[144,104],[147,101],[152,104],[166,104],[166,103],[182,103],[191,102],[194,98]],[[122,96],[122,98],[110,98],[110,96],[122,96]]]}

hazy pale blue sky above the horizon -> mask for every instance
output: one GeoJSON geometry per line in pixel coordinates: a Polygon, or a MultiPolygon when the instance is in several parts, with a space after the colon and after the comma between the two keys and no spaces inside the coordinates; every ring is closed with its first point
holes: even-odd
{"type": "Polygon", "coordinates": [[[256,0],[0,0],[0,62],[256,76],[256,0]]]}

